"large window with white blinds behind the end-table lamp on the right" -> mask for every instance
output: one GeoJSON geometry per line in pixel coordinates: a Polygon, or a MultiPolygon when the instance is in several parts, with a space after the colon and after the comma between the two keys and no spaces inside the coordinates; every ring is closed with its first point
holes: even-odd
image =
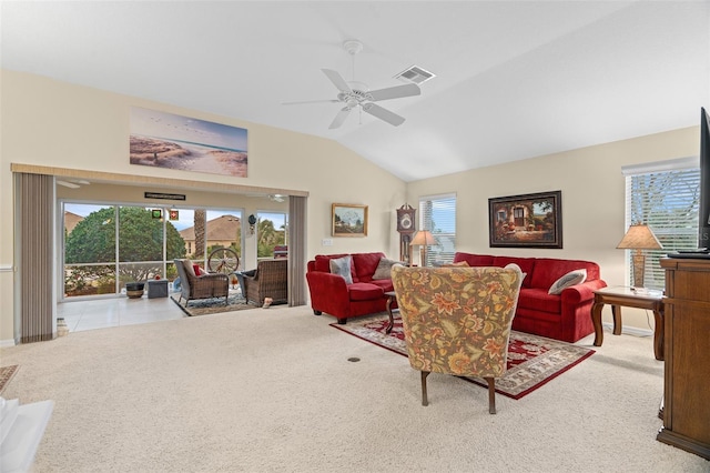
{"type": "MultiPolygon", "coordinates": [[[[669,251],[698,248],[700,165],[698,158],[683,158],[626,167],[626,223],[646,223],[663,245],[646,252],[646,288],[662,290],[665,272],[659,259],[669,251]]],[[[631,268],[631,250],[627,250],[631,268]]],[[[632,275],[627,275],[632,285],[632,275]]]]}

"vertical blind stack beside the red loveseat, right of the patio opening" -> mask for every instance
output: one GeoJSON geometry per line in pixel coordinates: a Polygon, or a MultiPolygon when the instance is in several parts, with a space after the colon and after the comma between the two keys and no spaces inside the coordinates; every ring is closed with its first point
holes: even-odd
{"type": "Polygon", "coordinates": [[[306,304],[306,198],[288,198],[288,306],[306,304]]]}

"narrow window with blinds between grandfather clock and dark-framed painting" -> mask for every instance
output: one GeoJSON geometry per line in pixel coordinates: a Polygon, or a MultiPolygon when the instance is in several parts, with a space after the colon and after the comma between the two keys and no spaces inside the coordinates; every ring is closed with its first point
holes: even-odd
{"type": "Polygon", "coordinates": [[[456,194],[419,198],[419,230],[428,230],[436,244],[427,246],[426,265],[454,261],[456,252],[456,194]]]}

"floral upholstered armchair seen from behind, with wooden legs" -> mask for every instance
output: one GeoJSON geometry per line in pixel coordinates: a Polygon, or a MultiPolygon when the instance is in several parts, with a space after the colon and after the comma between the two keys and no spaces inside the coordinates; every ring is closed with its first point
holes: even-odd
{"type": "Polygon", "coordinates": [[[392,280],[409,364],[422,371],[422,405],[428,404],[429,373],[477,376],[488,383],[495,414],[495,379],[506,372],[520,269],[395,265],[392,280]]]}

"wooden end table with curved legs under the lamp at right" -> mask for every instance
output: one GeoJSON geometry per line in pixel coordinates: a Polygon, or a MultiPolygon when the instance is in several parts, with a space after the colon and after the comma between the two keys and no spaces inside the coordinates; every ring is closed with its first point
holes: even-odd
{"type": "Polygon", "coordinates": [[[647,309],[653,311],[656,329],[653,330],[653,354],[656,360],[663,360],[663,292],[652,289],[635,289],[629,286],[602,288],[595,291],[591,305],[591,323],[595,325],[595,346],[601,346],[604,330],[601,328],[601,309],[611,305],[613,315],[613,334],[621,334],[621,308],[647,309]]]}

